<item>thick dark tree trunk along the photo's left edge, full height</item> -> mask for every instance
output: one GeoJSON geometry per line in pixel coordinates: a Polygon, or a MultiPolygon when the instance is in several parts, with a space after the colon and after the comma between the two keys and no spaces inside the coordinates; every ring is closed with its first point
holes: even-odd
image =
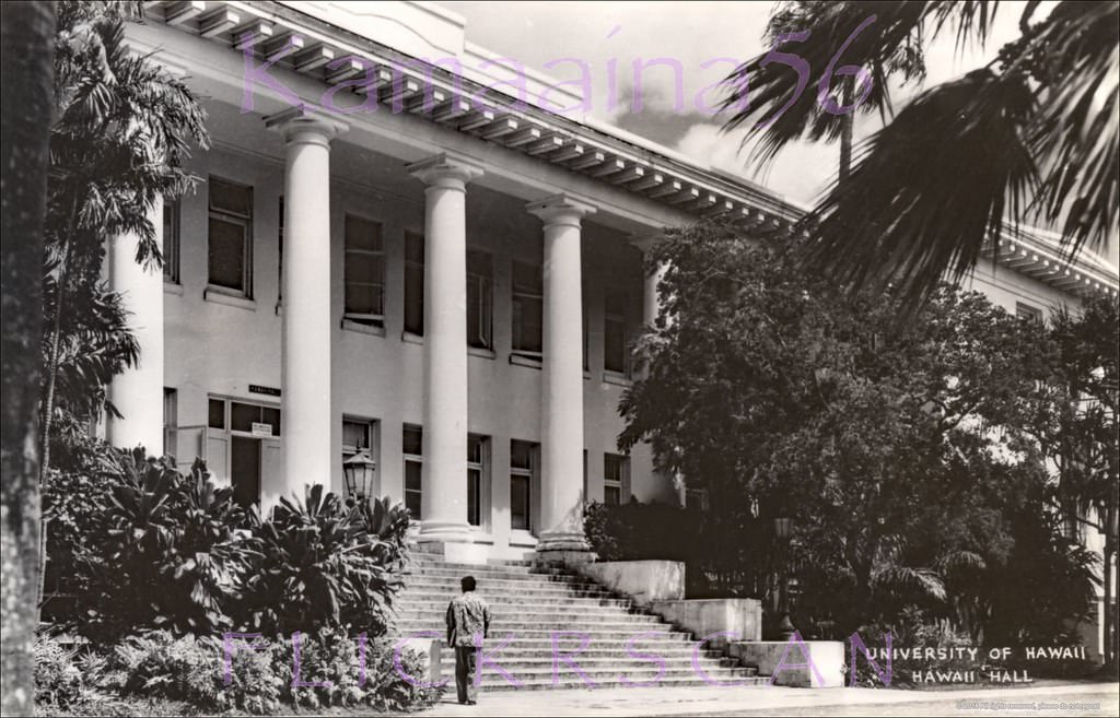
{"type": "Polygon", "coordinates": [[[0,9],[3,91],[3,417],[0,441],[0,712],[28,716],[35,699],[39,575],[38,401],[43,342],[43,218],[54,97],[54,2],[4,2],[0,9]]]}

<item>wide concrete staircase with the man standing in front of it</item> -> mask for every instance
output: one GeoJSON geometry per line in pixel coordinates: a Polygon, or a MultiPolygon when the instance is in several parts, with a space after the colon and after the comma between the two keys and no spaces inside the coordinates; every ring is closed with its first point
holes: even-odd
{"type": "MultiPolygon", "coordinates": [[[[720,652],[701,649],[693,665],[697,641],[689,633],[673,630],[659,616],[643,612],[628,598],[612,595],[601,586],[562,568],[533,566],[529,561],[491,560],[486,566],[451,564],[432,555],[412,554],[405,588],[393,602],[398,613],[396,633],[414,635],[436,631],[445,635],[445,614],[450,599],[460,593],[459,579],[474,576],[478,594],[491,605],[493,622],[487,654],[521,686],[510,683],[493,668],[483,672],[482,690],[542,690],[550,688],[620,688],[635,683],[653,686],[706,686],[730,683],[763,684],[767,681],[755,669],[739,668],[720,652]],[[559,655],[579,649],[582,637],[562,635],[578,632],[590,636],[587,649],[572,658],[582,670],[580,677],[563,659],[558,661],[553,680],[553,633],[558,634],[559,655]],[[627,642],[640,634],[632,653],[627,642]],[[506,637],[510,642],[491,653],[506,637]],[[657,679],[655,658],[664,661],[657,679]],[[629,683],[623,680],[625,677],[629,683]],[[656,683],[654,683],[656,681],[656,683]],[[718,682],[718,683],[717,683],[718,682]]],[[[455,658],[442,653],[442,674],[454,686],[455,658]]]]}

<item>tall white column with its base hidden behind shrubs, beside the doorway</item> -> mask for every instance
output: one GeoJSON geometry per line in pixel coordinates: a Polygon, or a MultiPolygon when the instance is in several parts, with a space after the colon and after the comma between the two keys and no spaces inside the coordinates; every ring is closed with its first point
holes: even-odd
{"type": "Polygon", "coordinates": [[[330,140],[347,127],[292,107],[267,120],[283,134],[284,262],[281,338],[282,475],[261,476],[261,508],[306,484],[330,485],[330,140]]]}

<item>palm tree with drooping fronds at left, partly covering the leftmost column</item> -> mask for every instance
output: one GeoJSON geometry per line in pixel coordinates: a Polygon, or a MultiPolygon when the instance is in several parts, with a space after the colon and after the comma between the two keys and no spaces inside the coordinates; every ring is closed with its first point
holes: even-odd
{"type": "MultiPolygon", "coordinates": [[[[43,473],[59,410],[95,415],[113,375],[137,358],[120,297],[100,281],[108,237],[140,238],[137,262],[162,257],[149,209],[190,185],[190,143],[206,147],[190,91],[124,42],[130,6],[58,4],[55,115],[46,227],[43,473]]],[[[112,412],[112,407],[109,407],[112,412]]]]}

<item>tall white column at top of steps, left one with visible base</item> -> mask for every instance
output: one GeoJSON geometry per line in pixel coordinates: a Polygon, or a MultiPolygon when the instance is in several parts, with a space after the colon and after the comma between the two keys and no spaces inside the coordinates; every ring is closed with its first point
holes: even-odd
{"type": "Polygon", "coordinates": [[[424,423],[420,542],[468,540],[467,182],[480,167],[447,154],[409,164],[424,190],[424,423]]]}

